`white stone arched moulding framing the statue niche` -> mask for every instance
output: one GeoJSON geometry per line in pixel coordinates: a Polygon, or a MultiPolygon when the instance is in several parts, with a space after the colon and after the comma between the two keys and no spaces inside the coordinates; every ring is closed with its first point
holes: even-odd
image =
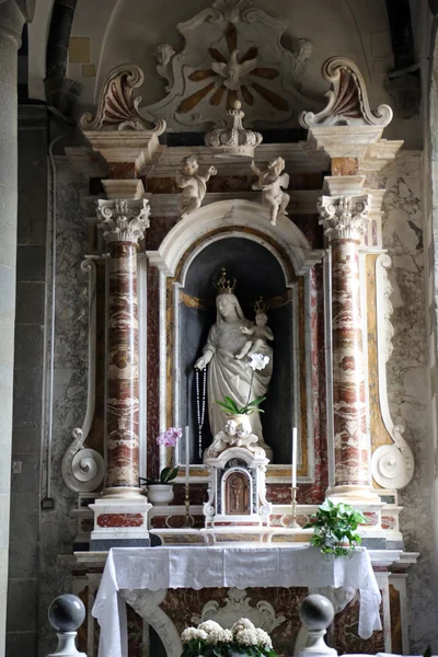
{"type": "MultiPolygon", "coordinates": [[[[152,219],[153,220],[153,219],[152,219]]],[[[185,277],[194,258],[203,251],[207,245],[221,239],[228,239],[231,237],[239,237],[249,239],[257,242],[265,249],[267,249],[274,257],[278,261],[281,270],[285,275],[286,287],[292,289],[293,299],[293,287],[295,280],[290,277],[287,269],[286,263],[281,257],[279,251],[270,244],[274,241],[279,249],[287,254],[289,257],[293,270],[297,276],[304,277],[304,299],[309,297],[309,276],[306,276],[311,267],[322,261],[324,252],[322,250],[313,250],[309,244],[308,240],[300,231],[300,229],[285,215],[279,215],[277,224],[272,226],[269,221],[268,212],[261,204],[253,203],[243,199],[229,199],[221,200],[218,203],[210,204],[206,207],[201,207],[195,212],[191,214],[185,219],[178,221],[176,226],[166,234],[162,243],[157,251],[147,251],[149,263],[155,266],[160,273],[160,430],[165,429],[166,422],[166,278],[173,277],[176,273],[177,266],[183,258],[186,251],[198,241],[203,235],[210,233],[218,229],[232,229],[224,233],[212,235],[206,241],[201,241],[196,249],[189,254],[184,262],[182,267],[180,281],[175,283],[174,303],[178,304],[178,288],[184,287],[185,277]],[[251,228],[256,230],[260,234],[254,235],[245,232],[245,229],[251,228]],[[266,237],[266,240],[263,238],[266,237]]],[[[297,295],[295,295],[297,297],[297,295]]],[[[175,315],[176,316],[176,315],[175,315]]],[[[310,315],[307,313],[306,316],[306,358],[310,364],[311,355],[311,343],[310,343],[310,315]]],[[[177,371],[178,364],[178,346],[180,336],[177,334],[177,322],[175,322],[175,335],[174,335],[174,372],[177,371]]],[[[295,348],[295,345],[293,345],[295,348]]],[[[308,367],[307,364],[307,373],[308,367]]],[[[307,377],[308,378],[308,377],[307,377]]],[[[178,422],[178,391],[176,390],[176,377],[174,377],[174,408],[173,416],[177,424],[178,422]]],[[[307,390],[311,392],[311,390],[307,390]]],[[[312,400],[309,397],[309,405],[311,406],[312,400]]],[[[308,430],[308,463],[309,474],[306,477],[300,477],[302,483],[312,483],[314,480],[314,445],[313,445],[313,426],[309,426],[308,430]]],[[[160,452],[160,468],[165,465],[165,449],[160,452]]],[[[175,454],[176,462],[178,454],[175,454]]],[[[206,476],[196,477],[196,481],[207,481],[206,476]]],[[[285,482],[289,481],[289,477],[285,479],[285,482]]]]}

